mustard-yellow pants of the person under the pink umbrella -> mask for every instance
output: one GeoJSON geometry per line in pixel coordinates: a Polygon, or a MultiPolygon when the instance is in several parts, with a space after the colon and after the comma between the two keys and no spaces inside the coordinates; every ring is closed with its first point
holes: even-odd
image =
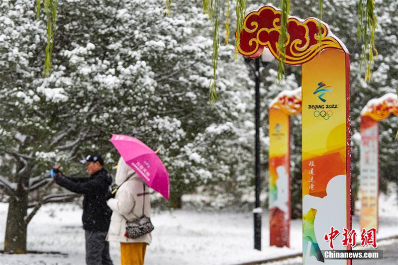
{"type": "Polygon", "coordinates": [[[143,265],[146,243],[120,243],[121,265],[143,265]]]}

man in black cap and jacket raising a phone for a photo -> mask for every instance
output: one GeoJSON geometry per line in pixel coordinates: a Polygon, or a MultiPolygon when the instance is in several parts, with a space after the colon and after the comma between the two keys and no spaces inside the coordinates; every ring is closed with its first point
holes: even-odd
{"type": "Polygon", "coordinates": [[[105,241],[112,213],[106,205],[106,195],[112,177],[103,168],[103,159],[99,154],[88,155],[80,163],[86,165],[90,177],[67,177],[59,170],[59,165],[52,168],[51,176],[58,185],[84,194],[82,220],[86,236],[86,264],[112,265],[109,243],[105,241]]]}

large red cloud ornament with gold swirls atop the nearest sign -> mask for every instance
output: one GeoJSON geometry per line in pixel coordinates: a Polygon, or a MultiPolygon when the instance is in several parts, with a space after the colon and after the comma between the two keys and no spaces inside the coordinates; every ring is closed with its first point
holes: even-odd
{"type": "MultiPolygon", "coordinates": [[[[294,16],[289,17],[288,37],[285,44],[285,64],[301,65],[326,48],[335,48],[348,53],[344,44],[331,33],[329,26],[322,21],[322,46],[319,46],[318,22],[317,18],[312,17],[305,20],[294,16]]],[[[265,5],[257,11],[248,13],[240,34],[239,53],[252,59],[259,57],[266,47],[276,58],[279,58],[278,39],[280,31],[280,9],[265,5]]]]}

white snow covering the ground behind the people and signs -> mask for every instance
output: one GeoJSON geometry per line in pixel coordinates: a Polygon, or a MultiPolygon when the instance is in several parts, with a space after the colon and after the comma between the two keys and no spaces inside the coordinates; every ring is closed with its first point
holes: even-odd
{"type": "MultiPolygon", "coordinates": [[[[396,193],[380,196],[378,239],[398,236],[396,193]],[[384,209],[384,210],[383,210],[384,209]]],[[[3,248],[7,204],[0,203],[0,249],[3,248]]],[[[1,255],[6,265],[84,265],[85,240],[82,210],[74,204],[44,205],[28,227],[28,250],[61,252],[66,255],[1,255]]],[[[253,214],[235,212],[196,212],[176,210],[155,212],[153,241],[147,248],[146,265],[239,264],[272,259],[302,251],[301,220],[293,220],[291,248],[269,246],[268,213],[262,216],[262,251],[253,249],[253,214]]],[[[353,228],[359,218],[353,216],[353,228]]],[[[120,264],[118,243],[111,243],[115,265],[120,264]]]]}

